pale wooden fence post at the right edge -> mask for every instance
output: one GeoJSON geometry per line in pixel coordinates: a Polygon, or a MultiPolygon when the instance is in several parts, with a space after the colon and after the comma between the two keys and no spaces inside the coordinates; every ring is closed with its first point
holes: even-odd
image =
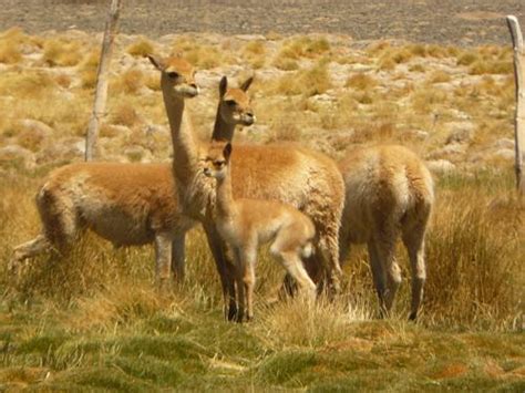
{"type": "Polygon", "coordinates": [[[522,29],[514,15],[506,18],[514,48],[514,79],[516,81],[516,114],[514,118],[514,141],[516,148],[516,187],[519,197],[525,195],[523,158],[525,156],[525,46],[522,29]]]}

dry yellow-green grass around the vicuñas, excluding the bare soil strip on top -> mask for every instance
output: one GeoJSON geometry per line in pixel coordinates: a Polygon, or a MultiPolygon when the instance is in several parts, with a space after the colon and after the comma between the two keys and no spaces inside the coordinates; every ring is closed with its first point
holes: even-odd
{"type": "MultiPolygon", "coordinates": [[[[87,51],[82,51],[75,68],[56,69],[76,60],[62,59],[63,48],[52,53],[48,43],[48,55],[54,59],[50,64],[55,65],[42,68],[39,59],[45,42],[65,39],[39,40],[11,31],[0,34],[0,42],[20,42],[14,48],[21,58],[0,75],[0,146],[16,141],[50,164],[35,170],[17,165],[0,170],[0,348],[6,349],[0,351],[0,384],[69,391],[233,385],[523,390],[517,375],[525,364],[524,342],[516,332],[523,331],[525,213],[511,197],[512,163],[484,158],[482,165],[494,170],[482,172],[470,162],[471,153],[483,153],[512,135],[508,49],[380,42],[356,50],[312,37],[274,39],[280,41],[228,38],[212,44],[187,34],[174,43],[174,51],[199,68],[220,66],[228,76],[248,72],[241,66],[262,68],[250,94],[266,131],[241,133],[243,139],[294,141],[334,158],[356,145],[388,142],[428,155],[443,147],[454,122],[474,130],[466,142],[469,153],[457,159],[462,175],[435,178],[436,209],[428,235],[429,275],[420,322],[405,322],[410,275],[401,247],[398,256],[406,279],[387,321],[373,318],[377,299],[368,257],[358,246],[344,266],[342,296],[311,308],[300,300],[265,300],[275,299],[284,271],[262,251],[257,318],[244,325],[222,320],[220,285],[200,230],[187,238],[187,281],[166,296],[153,287],[153,247],[115,250],[92,234],[69,256],[31,260],[13,280],[6,272],[12,247],[40,228],[34,193],[44,174],[63,164],[43,152],[64,136],[83,135],[100,52],[71,40],[73,53],[76,44],[87,51]],[[272,65],[295,70],[281,72],[272,65]],[[21,118],[42,121],[53,133],[42,138],[20,127],[21,118]]],[[[133,50],[115,52],[101,136],[109,155],[124,157],[127,152],[127,158],[138,159],[144,148],[155,159],[167,159],[171,141],[164,131],[158,74],[141,71],[134,65],[140,60],[119,58],[125,51],[141,55],[147,46],[141,40],[133,50]]],[[[158,46],[165,53],[172,49],[158,46]]],[[[203,136],[208,135],[216,108],[216,86],[207,87],[213,94],[204,91],[192,102],[203,136]]]]}

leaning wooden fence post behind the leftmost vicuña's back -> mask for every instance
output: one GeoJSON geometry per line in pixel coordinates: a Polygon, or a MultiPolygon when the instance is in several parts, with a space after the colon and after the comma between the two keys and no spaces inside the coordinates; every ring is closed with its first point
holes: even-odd
{"type": "Polygon", "coordinates": [[[96,72],[96,89],[93,112],[85,134],[85,161],[92,161],[96,156],[96,138],[99,136],[100,120],[105,114],[105,102],[107,99],[107,72],[110,70],[113,41],[116,37],[116,25],[121,0],[112,0],[110,15],[105,23],[104,39],[102,42],[101,59],[96,72]]]}

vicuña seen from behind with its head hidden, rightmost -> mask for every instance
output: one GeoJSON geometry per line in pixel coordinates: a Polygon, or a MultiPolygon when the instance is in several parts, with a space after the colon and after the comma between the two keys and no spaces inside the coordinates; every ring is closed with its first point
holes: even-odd
{"type": "Polygon", "coordinates": [[[381,313],[389,313],[401,283],[395,244],[401,234],[412,272],[414,320],[426,277],[424,236],[434,201],[433,182],[423,162],[397,145],[354,148],[340,163],[346,203],[341,221],[341,262],[350,244],[367,244],[381,313]]]}

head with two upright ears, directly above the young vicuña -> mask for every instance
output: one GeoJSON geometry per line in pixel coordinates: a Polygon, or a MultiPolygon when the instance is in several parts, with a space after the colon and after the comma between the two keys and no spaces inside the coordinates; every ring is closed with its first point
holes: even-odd
{"type": "Polygon", "coordinates": [[[223,76],[220,80],[218,112],[227,124],[254,124],[255,116],[254,111],[251,111],[251,100],[246,94],[253,81],[254,76],[250,76],[239,87],[228,89],[228,79],[223,76]]]}

